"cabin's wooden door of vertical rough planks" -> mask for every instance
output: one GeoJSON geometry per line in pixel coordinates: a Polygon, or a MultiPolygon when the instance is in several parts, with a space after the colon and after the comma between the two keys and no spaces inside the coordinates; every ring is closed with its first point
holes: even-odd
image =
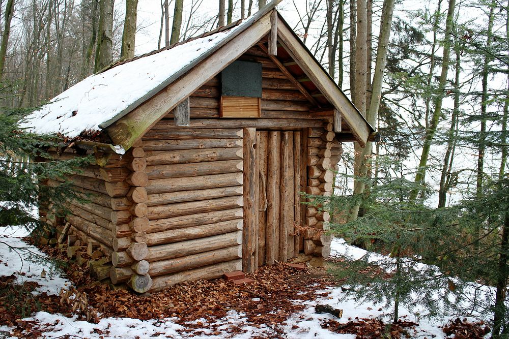
{"type": "MultiPolygon", "coordinates": [[[[296,232],[301,224],[306,167],[301,131],[257,131],[256,201],[258,237],[257,266],[287,261],[299,254],[302,240],[296,232]]],[[[305,144],[304,144],[305,145],[305,144]]]]}

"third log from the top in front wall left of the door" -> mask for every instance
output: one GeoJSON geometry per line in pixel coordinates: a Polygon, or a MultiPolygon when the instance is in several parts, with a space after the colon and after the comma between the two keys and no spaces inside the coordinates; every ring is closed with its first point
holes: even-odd
{"type": "Polygon", "coordinates": [[[149,166],[242,159],[242,149],[234,147],[148,151],[146,159],[149,166]]]}

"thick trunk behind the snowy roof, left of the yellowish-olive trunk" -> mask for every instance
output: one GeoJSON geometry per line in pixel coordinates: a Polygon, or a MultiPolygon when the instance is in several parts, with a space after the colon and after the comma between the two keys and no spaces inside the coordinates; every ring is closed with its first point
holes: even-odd
{"type": "Polygon", "coordinates": [[[94,72],[97,73],[111,64],[113,45],[113,3],[101,0],[99,4],[99,40],[97,41],[94,72]]]}

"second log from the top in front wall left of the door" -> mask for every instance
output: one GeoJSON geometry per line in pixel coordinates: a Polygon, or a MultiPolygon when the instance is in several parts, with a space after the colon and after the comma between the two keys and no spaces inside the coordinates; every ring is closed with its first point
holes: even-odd
{"type": "Polygon", "coordinates": [[[242,147],[242,139],[144,140],[146,151],[242,147]]]}

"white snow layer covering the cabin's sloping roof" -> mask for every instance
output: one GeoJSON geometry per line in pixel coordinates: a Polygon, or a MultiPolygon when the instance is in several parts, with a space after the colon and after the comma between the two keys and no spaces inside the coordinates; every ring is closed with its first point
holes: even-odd
{"type": "Polygon", "coordinates": [[[100,130],[101,123],[116,117],[248,21],[91,75],[27,116],[21,127],[39,134],[62,133],[70,138],[84,131],[100,130]]]}

